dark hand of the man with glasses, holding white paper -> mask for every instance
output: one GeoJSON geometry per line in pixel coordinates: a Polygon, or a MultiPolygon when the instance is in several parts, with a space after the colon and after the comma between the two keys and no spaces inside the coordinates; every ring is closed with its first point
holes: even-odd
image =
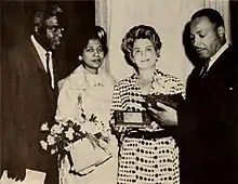
{"type": "Polygon", "coordinates": [[[26,178],[26,168],[21,163],[12,163],[12,166],[8,169],[8,178],[13,179],[16,182],[23,181],[26,178]]]}

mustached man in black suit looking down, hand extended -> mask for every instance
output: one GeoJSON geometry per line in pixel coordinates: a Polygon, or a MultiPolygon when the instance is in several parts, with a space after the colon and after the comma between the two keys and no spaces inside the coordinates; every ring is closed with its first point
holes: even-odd
{"type": "Polygon", "coordinates": [[[190,41],[200,64],[187,79],[177,111],[157,104],[162,123],[178,122],[182,184],[236,184],[238,175],[238,57],[213,9],[190,19],[190,41]]]}

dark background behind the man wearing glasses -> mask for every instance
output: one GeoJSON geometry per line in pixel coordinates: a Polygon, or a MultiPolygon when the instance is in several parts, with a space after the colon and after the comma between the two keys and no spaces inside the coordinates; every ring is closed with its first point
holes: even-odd
{"type": "MultiPolygon", "coordinates": [[[[47,0],[29,1],[29,0],[3,0],[1,1],[1,56],[4,52],[19,42],[22,39],[29,39],[30,15],[36,8],[44,5],[47,0]]],[[[64,68],[61,78],[67,76],[74,68],[78,66],[77,58],[70,53],[75,39],[79,34],[85,30],[85,27],[95,25],[95,1],[94,0],[77,0],[77,1],[50,1],[62,6],[66,13],[67,26],[64,34],[63,45],[55,53],[58,68],[64,68]]],[[[77,43],[79,44],[79,43],[77,43]]]]}

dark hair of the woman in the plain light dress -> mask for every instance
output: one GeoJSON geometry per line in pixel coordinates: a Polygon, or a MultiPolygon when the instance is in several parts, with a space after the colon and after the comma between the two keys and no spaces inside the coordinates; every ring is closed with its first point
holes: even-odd
{"type": "Polygon", "coordinates": [[[100,40],[104,55],[107,54],[108,48],[107,48],[107,34],[101,26],[93,26],[90,28],[81,29],[81,34],[78,35],[79,38],[77,38],[77,47],[75,48],[78,55],[81,55],[83,50],[87,48],[89,41],[91,39],[93,40],[100,40]]]}

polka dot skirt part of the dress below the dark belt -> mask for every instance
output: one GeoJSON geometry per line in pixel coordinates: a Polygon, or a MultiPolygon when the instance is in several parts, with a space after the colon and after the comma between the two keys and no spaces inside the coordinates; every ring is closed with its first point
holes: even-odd
{"type": "Polygon", "coordinates": [[[118,184],[175,184],[178,148],[170,137],[143,140],[125,137],[120,150],[118,184]]]}

